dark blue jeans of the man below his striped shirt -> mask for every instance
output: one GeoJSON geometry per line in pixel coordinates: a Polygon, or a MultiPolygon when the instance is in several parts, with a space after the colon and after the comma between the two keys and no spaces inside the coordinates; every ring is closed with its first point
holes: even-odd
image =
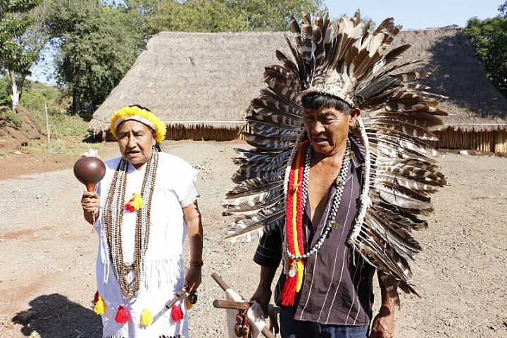
{"type": "Polygon", "coordinates": [[[295,320],[296,306],[282,306],[280,334],[282,338],[368,338],[368,325],[324,325],[295,320]]]}

